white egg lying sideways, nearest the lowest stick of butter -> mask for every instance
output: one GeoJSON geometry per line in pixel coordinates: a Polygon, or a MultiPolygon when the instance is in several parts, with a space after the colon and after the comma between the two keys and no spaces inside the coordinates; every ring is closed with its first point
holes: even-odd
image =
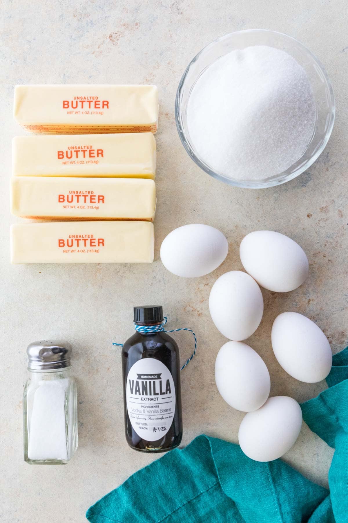
{"type": "Polygon", "coordinates": [[[163,240],[161,260],[176,276],[197,278],[215,270],[229,252],[222,232],[199,223],[174,229],[163,240]]]}

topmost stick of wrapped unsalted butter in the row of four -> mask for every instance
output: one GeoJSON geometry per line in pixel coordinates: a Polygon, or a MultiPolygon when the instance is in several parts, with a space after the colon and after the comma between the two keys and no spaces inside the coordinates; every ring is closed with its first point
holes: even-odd
{"type": "Polygon", "coordinates": [[[155,133],[158,89],[155,85],[16,85],[14,117],[33,132],[155,133]]]}

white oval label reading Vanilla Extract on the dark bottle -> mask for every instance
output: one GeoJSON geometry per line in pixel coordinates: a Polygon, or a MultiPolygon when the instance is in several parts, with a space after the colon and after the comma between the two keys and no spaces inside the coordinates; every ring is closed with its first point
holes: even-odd
{"type": "Polygon", "coordinates": [[[175,413],[175,387],[169,369],[154,358],[138,360],[128,372],[126,401],[138,436],[146,441],[161,439],[175,413]]]}

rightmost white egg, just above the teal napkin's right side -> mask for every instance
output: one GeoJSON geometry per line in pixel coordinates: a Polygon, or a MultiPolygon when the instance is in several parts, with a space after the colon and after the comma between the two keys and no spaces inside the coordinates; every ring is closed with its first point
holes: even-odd
{"type": "Polygon", "coordinates": [[[297,312],[279,314],[272,326],[274,356],[293,378],[316,383],[332,366],[331,347],[318,325],[297,312]]]}

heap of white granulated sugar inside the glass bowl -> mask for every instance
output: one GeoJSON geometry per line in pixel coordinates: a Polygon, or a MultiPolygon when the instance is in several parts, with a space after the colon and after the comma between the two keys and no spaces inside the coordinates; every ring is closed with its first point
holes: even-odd
{"type": "Polygon", "coordinates": [[[232,51],[198,78],[187,126],[198,155],[237,180],[263,180],[299,160],[313,134],[315,100],[303,67],[267,46],[232,51]]]}

